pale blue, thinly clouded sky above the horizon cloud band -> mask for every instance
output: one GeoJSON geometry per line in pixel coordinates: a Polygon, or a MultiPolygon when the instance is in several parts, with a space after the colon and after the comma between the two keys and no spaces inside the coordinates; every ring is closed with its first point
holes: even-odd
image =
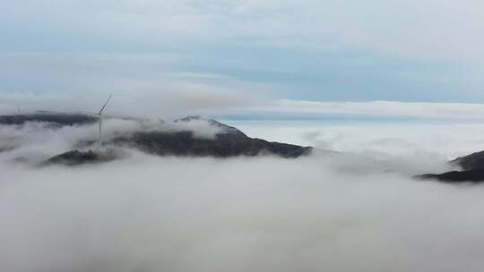
{"type": "Polygon", "coordinates": [[[273,99],[483,102],[483,9],[477,0],[3,0],[0,92],[100,97],[195,84],[273,99]]]}

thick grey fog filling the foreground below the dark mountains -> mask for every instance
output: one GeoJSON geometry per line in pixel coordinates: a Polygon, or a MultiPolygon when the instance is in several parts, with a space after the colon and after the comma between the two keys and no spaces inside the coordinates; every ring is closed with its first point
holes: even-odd
{"type": "Polygon", "coordinates": [[[343,174],[315,157],[2,168],[12,272],[480,271],[466,253],[480,252],[480,186],[343,174]]]}

